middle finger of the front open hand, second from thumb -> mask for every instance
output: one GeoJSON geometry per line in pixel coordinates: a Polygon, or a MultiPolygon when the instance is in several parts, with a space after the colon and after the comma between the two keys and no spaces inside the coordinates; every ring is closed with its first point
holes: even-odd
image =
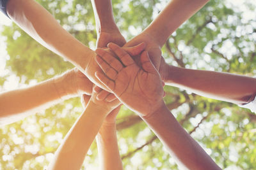
{"type": "Polygon", "coordinates": [[[116,71],[120,71],[124,67],[118,59],[116,59],[113,55],[106,52],[105,50],[97,48],[95,52],[100,55],[102,60],[106,61],[109,66],[113,67],[113,69],[115,69],[116,71]]]}

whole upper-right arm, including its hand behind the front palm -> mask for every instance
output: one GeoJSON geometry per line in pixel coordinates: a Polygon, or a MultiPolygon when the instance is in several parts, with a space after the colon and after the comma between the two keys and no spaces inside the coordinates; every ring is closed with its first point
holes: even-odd
{"type": "MultiPolygon", "coordinates": [[[[146,43],[145,50],[147,50],[156,69],[159,70],[161,64],[161,48],[168,37],[208,1],[209,0],[170,1],[143,32],[132,38],[124,46],[134,46],[141,42],[146,43]]],[[[164,74],[162,71],[160,74],[164,74]]]]}

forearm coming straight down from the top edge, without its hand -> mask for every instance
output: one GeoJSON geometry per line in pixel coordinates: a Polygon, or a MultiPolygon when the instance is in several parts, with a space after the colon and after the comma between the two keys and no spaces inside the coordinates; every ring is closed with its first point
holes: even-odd
{"type": "Polygon", "coordinates": [[[91,0],[97,33],[115,32],[118,30],[113,17],[111,0],[91,0]]]}

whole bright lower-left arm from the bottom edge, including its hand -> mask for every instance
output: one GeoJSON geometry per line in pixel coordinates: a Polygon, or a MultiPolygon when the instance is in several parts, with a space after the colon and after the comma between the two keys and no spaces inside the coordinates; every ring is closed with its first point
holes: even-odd
{"type": "MultiPolygon", "coordinates": [[[[84,157],[105,118],[120,105],[117,99],[112,102],[98,101],[96,96],[97,92],[93,91],[84,112],[68,131],[48,169],[81,169],[84,157]]],[[[83,98],[88,100],[86,95],[83,98]]]]}

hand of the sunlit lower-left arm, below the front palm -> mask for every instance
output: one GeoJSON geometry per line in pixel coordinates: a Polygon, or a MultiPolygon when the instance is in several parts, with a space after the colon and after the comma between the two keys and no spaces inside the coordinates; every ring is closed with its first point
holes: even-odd
{"type": "MultiPolygon", "coordinates": [[[[115,108],[117,108],[120,105],[120,101],[118,101],[118,99],[116,99],[116,98],[111,102],[106,101],[106,98],[109,95],[112,95],[109,92],[108,92],[108,94],[104,93],[105,96],[102,101],[97,100],[97,95],[99,95],[100,92],[96,92],[94,89],[95,89],[95,86],[93,87],[92,96],[83,94],[83,96],[81,97],[81,103],[83,104],[84,108],[86,108],[89,101],[91,101],[95,104],[95,106],[103,108],[104,110],[107,110],[106,113],[110,114],[113,112],[113,110],[115,110],[115,108]]],[[[104,92],[104,90],[102,90],[102,91],[104,92]]]]}

